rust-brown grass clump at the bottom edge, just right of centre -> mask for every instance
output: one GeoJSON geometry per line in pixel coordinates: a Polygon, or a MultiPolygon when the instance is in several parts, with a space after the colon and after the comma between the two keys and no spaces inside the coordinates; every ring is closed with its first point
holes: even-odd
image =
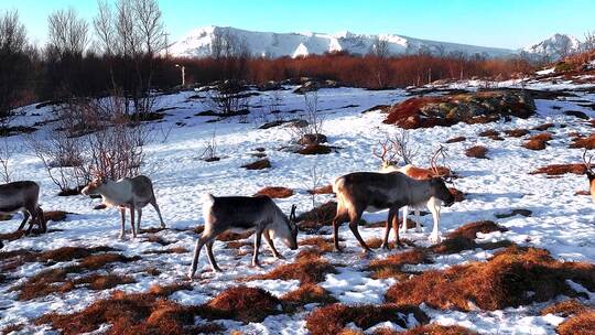
{"type": "Polygon", "coordinates": [[[312,335],[340,334],[345,325],[351,322],[367,329],[386,321],[407,328],[408,318],[411,316],[422,324],[429,321],[428,315],[418,306],[396,304],[347,306],[335,303],[310,313],[306,317],[306,328],[312,335]]]}

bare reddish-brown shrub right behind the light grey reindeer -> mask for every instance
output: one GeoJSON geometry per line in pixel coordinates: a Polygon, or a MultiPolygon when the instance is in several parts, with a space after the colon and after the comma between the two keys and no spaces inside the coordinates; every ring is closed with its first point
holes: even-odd
{"type": "Polygon", "coordinates": [[[139,174],[149,130],[126,114],[120,95],[71,99],[57,109],[57,128],[28,143],[61,191],[77,190],[96,176],[139,174]]]}

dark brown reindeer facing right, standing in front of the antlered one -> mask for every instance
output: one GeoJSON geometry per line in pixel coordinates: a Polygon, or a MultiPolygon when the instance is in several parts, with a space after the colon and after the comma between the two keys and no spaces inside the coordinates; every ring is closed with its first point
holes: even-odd
{"type": "Polygon", "coordinates": [[[434,216],[434,230],[431,240],[440,241],[439,237],[439,203],[450,206],[454,203],[444,180],[434,177],[426,181],[418,181],[404,175],[401,172],[354,172],[338,177],[333,184],[333,191],[337,195],[337,214],[333,219],[333,237],[337,251],[338,227],[347,218],[349,228],[355,235],[364,251],[371,251],[366,245],[357,229],[357,223],[364,212],[378,212],[389,209],[387,224],[385,226],[385,239],[382,248],[388,248],[388,237],[391,229],[394,229],[396,246],[400,247],[399,240],[399,208],[403,206],[420,206],[426,204],[434,216]]]}

